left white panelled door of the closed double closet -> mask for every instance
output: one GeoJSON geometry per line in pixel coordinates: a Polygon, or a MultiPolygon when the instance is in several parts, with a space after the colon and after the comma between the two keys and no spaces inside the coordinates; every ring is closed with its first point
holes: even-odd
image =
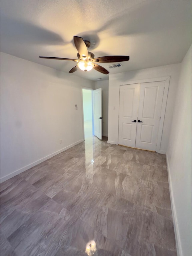
{"type": "Polygon", "coordinates": [[[140,84],[120,86],[118,140],[120,145],[135,147],[139,88],[140,84]]]}

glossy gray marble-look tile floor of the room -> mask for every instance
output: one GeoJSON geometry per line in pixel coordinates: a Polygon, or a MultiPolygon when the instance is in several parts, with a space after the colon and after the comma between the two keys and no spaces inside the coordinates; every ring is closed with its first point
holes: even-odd
{"type": "Polygon", "coordinates": [[[165,155],[91,137],[1,183],[1,256],[87,255],[90,240],[177,255],[165,155]]]}

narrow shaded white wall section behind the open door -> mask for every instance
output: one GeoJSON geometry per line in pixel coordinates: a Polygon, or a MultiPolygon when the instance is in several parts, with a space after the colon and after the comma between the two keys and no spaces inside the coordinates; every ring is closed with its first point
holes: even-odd
{"type": "Polygon", "coordinates": [[[109,80],[95,82],[95,89],[102,89],[102,134],[108,137],[109,80]]]}

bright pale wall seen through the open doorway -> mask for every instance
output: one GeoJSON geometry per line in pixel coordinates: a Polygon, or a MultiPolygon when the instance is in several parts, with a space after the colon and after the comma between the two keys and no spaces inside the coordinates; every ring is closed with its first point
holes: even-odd
{"type": "Polygon", "coordinates": [[[83,118],[84,121],[92,120],[92,90],[82,89],[83,118]]]}

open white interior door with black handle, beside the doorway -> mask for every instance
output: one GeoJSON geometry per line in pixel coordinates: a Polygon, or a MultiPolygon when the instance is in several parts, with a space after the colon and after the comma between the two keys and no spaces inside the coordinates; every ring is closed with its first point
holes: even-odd
{"type": "Polygon", "coordinates": [[[101,88],[93,91],[94,135],[102,140],[102,100],[101,88]]]}

